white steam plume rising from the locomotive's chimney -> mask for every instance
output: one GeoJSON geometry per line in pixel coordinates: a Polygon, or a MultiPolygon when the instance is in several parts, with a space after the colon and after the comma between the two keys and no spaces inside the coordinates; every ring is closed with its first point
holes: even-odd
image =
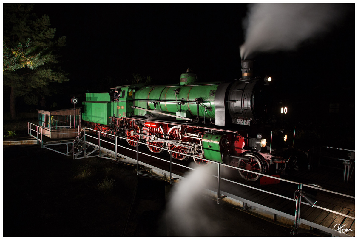
{"type": "Polygon", "coordinates": [[[327,3],[249,4],[241,59],[258,52],[295,50],[303,41],[329,31],[343,15],[344,7],[327,3]]]}

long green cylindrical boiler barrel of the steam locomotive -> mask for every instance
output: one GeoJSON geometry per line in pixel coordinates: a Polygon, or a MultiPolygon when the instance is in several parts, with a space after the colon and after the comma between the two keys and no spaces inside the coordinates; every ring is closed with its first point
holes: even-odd
{"type": "MultiPolygon", "coordinates": [[[[134,102],[134,105],[141,108],[154,110],[154,103],[150,100],[160,100],[156,106],[156,110],[172,114],[176,116],[178,111],[189,111],[190,115],[195,117],[198,115],[197,104],[195,104],[195,99],[202,98],[206,107],[211,107],[211,111],[207,111],[205,114],[205,107],[199,106],[199,116],[209,119],[209,117],[215,119],[215,105],[214,98],[215,92],[221,82],[193,82],[188,84],[189,86],[178,86],[178,84],[172,85],[132,85],[130,88],[138,87],[138,90],[135,91],[134,100],[148,100],[148,101],[137,101],[134,102]],[[210,84],[210,85],[207,85],[210,84]],[[175,98],[175,89],[179,89],[179,93],[176,94],[175,98]],[[185,103],[183,105],[178,105],[177,100],[192,101],[193,103],[185,103]]],[[[146,111],[143,110],[134,110],[134,115],[144,115],[146,111]]]]}

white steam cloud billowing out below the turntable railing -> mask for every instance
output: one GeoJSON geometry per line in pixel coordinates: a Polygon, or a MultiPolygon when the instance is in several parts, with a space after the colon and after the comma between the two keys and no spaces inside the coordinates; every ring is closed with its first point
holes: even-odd
{"type": "Polygon", "coordinates": [[[215,236],[220,230],[219,220],[209,217],[208,210],[203,206],[205,201],[213,201],[202,195],[201,192],[210,182],[217,182],[217,178],[208,175],[210,172],[217,175],[217,164],[206,166],[190,166],[197,170],[190,171],[185,180],[171,193],[167,204],[166,218],[175,236],[215,236]]]}

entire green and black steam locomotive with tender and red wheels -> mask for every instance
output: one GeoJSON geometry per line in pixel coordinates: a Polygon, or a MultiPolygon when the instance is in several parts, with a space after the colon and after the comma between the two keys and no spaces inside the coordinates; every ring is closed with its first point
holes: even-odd
{"type": "MultiPolygon", "coordinates": [[[[146,142],[151,152],[168,151],[174,159],[287,174],[289,167],[298,167],[297,156],[284,144],[283,130],[273,138],[265,131],[271,78],[254,77],[253,64],[242,60],[242,78],[232,81],[198,82],[188,69],[178,84],[116,86],[111,91],[119,90],[117,100],[108,93],[87,93],[82,119],[91,129],[125,137],[130,146],[146,142]]],[[[247,181],[260,178],[238,172],[247,181]]]]}

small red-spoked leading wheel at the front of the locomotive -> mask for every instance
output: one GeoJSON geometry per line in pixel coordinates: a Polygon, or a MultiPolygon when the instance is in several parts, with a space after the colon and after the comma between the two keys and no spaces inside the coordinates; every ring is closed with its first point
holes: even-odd
{"type": "MultiPolygon", "coordinates": [[[[248,154],[244,154],[244,156],[251,157],[251,160],[240,159],[239,163],[238,163],[238,167],[249,170],[249,171],[253,171],[253,172],[259,172],[259,173],[262,172],[263,164],[262,164],[260,154],[256,155],[256,154],[248,153],[248,154]]],[[[239,173],[240,173],[240,176],[247,181],[256,181],[257,179],[260,178],[260,175],[254,174],[252,172],[246,172],[246,171],[239,170],[239,173]]]]}

